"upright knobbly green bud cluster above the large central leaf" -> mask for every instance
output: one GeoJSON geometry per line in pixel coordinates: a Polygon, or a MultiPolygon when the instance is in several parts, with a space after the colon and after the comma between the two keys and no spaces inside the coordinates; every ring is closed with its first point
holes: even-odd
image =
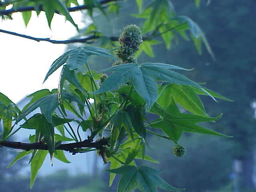
{"type": "Polygon", "coordinates": [[[116,57],[119,61],[113,65],[137,63],[134,53],[139,50],[140,44],[143,42],[140,28],[136,25],[126,26],[118,41],[121,44],[121,47],[116,52],[116,57]]]}

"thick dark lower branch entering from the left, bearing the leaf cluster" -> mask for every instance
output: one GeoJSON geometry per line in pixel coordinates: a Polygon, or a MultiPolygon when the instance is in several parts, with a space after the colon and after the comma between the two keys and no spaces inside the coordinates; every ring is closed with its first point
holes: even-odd
{"type": "MultiPolygon", "coordinates": [[[[68,144],[61,144],[60,146],[56,147],[56,150],[64,150],[69,152],[74,152],[76,148],[96,148],[100,149],[102,146],[108,145],[108,140],[102,138],[96,142],[91,142],[90,140],[84,140],[82,142],[76,143],[68,143],[68,144]]],[[[48,150],[46,144],[41,143],[22,143],[22,142],[14,142],[14,141],[2,141],[0,142],[0,146],[14,148],[14,149],[22,149],[22,150],[48,150]]]]}

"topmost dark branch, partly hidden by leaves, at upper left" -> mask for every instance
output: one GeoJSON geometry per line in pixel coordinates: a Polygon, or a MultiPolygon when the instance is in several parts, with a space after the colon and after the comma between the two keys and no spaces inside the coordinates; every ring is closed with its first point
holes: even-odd
{"type": "MultiPolygon", "coordinates": [[[[110,2],[115,2],[115,1],[120,1],[120,0],[101,0],[99,3],[101,5],[104,5],[104,4],[107,4],[107,3],[110,3],[110,2]]],[[[68,11],[69,12],[74,12],[74,11],[81,11],[81,10],[88,10],[90,7],[89,6],[84,6],[84,5],[81,5],[81,6],[76,6],[76,7],[70,7],[68,8],[68,11]]],[[[35,11],[35,7],[34,6],[26,6],[26,7],[20,7],[20,8],[17,8],[17,9],[14,9],[14,8],[11,8],[11,9],[8,9],[8,10],[0,10],[0,16],[1,15],[10,15],[12,13],[16,13],[16,12],[25,12],[25,11],[35,11]]],[[[40,11],[44,11],[42,6],[39,7],[39,10],[40,11]]],[[[55,11],[55,13],[59,14],[58,11],[55,11]]]]}

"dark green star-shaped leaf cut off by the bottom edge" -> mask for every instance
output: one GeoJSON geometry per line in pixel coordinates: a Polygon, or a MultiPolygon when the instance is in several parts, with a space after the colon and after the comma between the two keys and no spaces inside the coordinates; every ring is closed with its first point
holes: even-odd
{"type": "Polygon", "coordinates": [[[136,166],[122,166],[106,171],[122,175],[118,183],[117,192],[131,192],[136,188],[139,188],[142,192],[157,192],[157,188],[168,191],[184,190],[170,186],[158,176],[161,170],[156,170],[148,166],[140,166],[139,168],[136,166]]]}

